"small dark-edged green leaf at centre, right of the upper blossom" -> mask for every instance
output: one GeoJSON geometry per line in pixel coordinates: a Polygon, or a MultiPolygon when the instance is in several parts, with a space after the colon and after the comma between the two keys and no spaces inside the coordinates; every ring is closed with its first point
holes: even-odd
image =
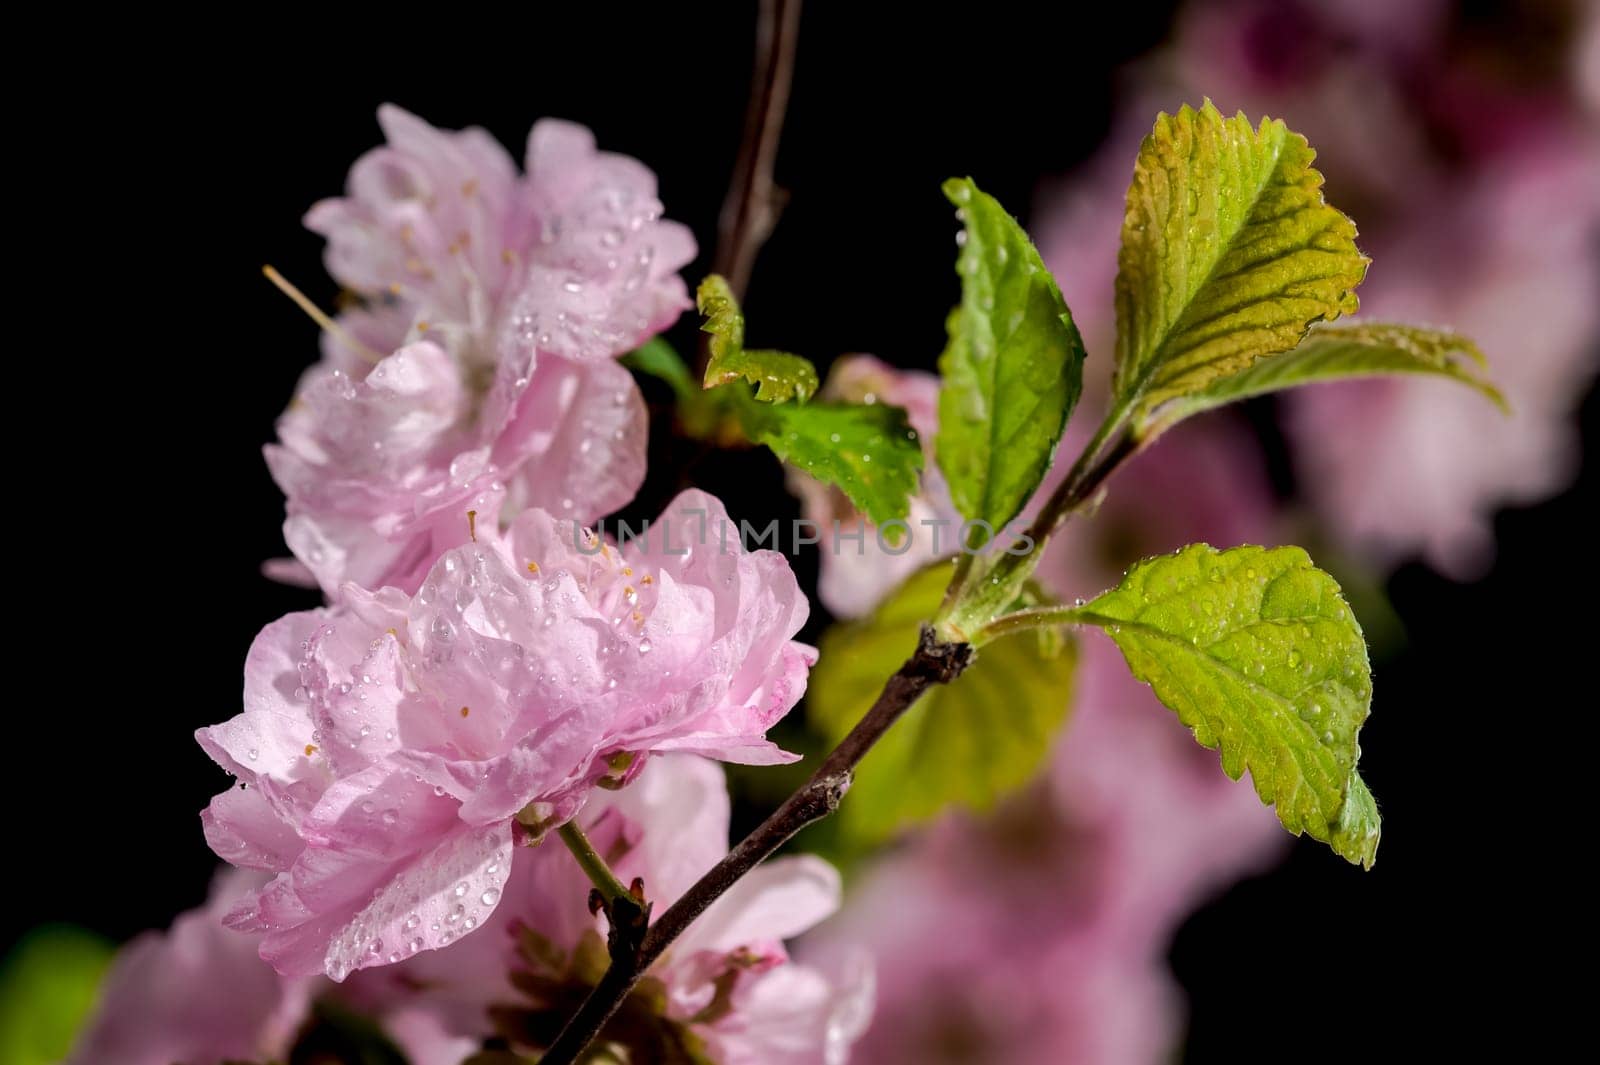
{"type": "Polygon", "coordinates": [[[746,435],[784,462],[843,491],[875,525],[902,520],[922,475],[922,445],[888,403],[757,403],[742,384],[734,411],[746,435]]]}

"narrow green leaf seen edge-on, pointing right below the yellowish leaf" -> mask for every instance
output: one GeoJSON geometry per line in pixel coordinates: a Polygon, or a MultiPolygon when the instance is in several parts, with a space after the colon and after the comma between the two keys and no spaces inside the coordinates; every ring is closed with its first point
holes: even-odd
{"type": "Polygon", "coordinates": [[[1506,397],[1477,373],[1483,366],[1486,360],[1478,345],[1456,333],[1379,321],[1318,326],[1294,350],[1258,360],[1230,377],[1173,400],[1162,408],[1160,421],[1170,425],[1213,406],[1302,384],[1384,374],[1450,377],[1510,413],[1506,397]]]}

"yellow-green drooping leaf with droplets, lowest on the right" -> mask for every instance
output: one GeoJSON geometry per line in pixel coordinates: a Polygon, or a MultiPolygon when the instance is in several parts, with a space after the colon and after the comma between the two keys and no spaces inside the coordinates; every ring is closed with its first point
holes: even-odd
{"type": "Polygon", "coordinates": [[[1229,777],[1250,769],[1285,828],[1371,868],[1378,808],[1355,774],[1366,643],[1306,552],[1194,544],[1136,564],[1074,619],[1110,635],[1229,777]]]}

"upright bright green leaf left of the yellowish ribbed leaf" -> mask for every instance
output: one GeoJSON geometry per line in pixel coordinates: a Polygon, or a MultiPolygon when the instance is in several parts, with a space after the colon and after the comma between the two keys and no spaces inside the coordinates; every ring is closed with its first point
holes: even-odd
{"type": "Polygon", "coordinates": [[[1016,219],[970,178],[944,182],[944,195],[965,232],[936,451],[955,507],[1000,529],[1050,469],[1083,389],[1083,341],[1016,219]]]}

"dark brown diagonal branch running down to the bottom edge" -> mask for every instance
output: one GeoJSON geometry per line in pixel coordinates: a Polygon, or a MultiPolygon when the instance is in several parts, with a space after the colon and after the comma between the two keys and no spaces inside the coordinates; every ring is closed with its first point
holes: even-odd
{"type": "Polygon", "coordinates": [[[838,747],[822,760],[805,787],[790,795],[778,811],[741,840],[728,857],[717,862],[682,899],[674,902],[661,919],[645,932],[638,950],[627,942],[613,939],[611,967],[595,985],[578,1014],[566,1022],[562,1035],[539,1059],[539,1065],[571,1065],[594,1041],[638,979],[651,963],[683,934],[706,907],[723,895],[734,883],[755,868],[773,851],[814,820],[838,809],[838,801],[850,790],[856,766],[872,745],[893,726],[917,699],[934,684],[947,684],[973,662],[973,648],[965,643],[941,643],[933,628],[923,625],[917,651],[883,684],[872,708],[856,723],[856,728],[840,740],[838,747]]]}

